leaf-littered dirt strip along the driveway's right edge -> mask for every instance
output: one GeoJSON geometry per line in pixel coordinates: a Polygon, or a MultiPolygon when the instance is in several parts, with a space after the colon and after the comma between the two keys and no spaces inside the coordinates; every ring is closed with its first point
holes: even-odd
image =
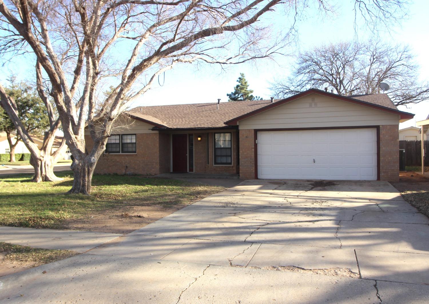
{"type": "Polygon", "coordinates": [[[416,172],[400,172],[399,182],[390,183],[402,197],[429,217],[429,178],[416,172]]]}

